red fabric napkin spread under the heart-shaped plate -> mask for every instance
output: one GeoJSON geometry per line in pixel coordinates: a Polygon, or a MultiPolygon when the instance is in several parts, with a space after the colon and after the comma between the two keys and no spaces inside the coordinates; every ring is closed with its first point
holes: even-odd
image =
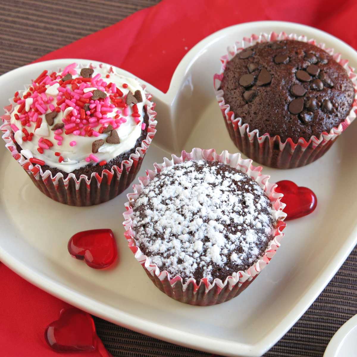
{"type": "MultiPolygon", "coordinates": [[[[356,13],[354,0],[164,0],[39,61],[70,57],[103,61],[166,92],[186,52],[224,27],[257,20],[300,22],[325,30],[356,48],[356,13]]],[[[69,305],[32,286],[3,264],[0,281],[0,355],[58,356],[46,345],[44,329],[69,305]]],[[[71,356],[97,357],[99,353],[71,356]]]]}

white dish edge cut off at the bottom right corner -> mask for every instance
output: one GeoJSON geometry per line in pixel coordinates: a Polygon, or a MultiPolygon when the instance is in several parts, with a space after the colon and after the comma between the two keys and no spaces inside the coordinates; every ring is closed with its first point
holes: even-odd
{"type": "Polygon", "coordinates": [[[344,323],[331,338],[323,357],[356,356],[357,315],[344,323]]]}

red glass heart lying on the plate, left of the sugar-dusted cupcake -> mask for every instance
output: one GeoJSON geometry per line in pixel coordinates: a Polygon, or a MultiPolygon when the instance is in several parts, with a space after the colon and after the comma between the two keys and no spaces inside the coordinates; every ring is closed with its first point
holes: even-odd
{"type": "Polygon", "coordinates": [[[94,229],[76,233],[68,242],[72,257],[84,260],[88,266],[103,269],[117,258],[117,248],[111,229],[94,229]]]}

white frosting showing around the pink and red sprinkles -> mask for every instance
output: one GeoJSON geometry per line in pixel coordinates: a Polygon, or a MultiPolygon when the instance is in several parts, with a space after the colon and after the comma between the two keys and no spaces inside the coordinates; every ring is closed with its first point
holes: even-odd
{"type": "MultiPolygon", "coordinates": [[[[48,73],[50,74],[50,72],[48,73]]],[[[53,77],[52,77],[53,79],[53,77]]],[[[81,167],[84,167],[88,164],[96,165],[99,163],[103,163],[103,161],[109,162],[110,160],[114,159],[116,156],[132,149],[135,146],[135,143],[137,139],[141,135],[141,129],[142,129],[142,122],[143,122],[143,116],[144,116],[144,105],[145,105],[145,93],[142,87],[140,86],[139,82],[136,79],[133,78],[127,78],[122,75],[116,74],[115,70],[112,69],[112,67],[107,66],[107,65],[100,65],[97,67],[90,66],[89,64],[84,66],[84,65],[77,65],[77,64],[72,64],[66,67],[66,69],[63,72],[58,72],[57,76],[55,77],[54,80],[50,79],[47,77],[47,82],[46,84],[46,91],[42,92],[40,94],[41,100],[43,100],[42,103],[42,110],[45,111],[43,114],[41,112],[38,112],[38,117],[42,118],[42,123],[40,126],[35,130],[36,127],[36,121],[30,121],[29,126],[22,126],[21,125],[21,118],[16,119],[15,114],[20,115],[18,113],[19,107],[21,104],[16,104],[14,106],[14,111],[11,113],[11,128],[15,132],[15,140],[17,143],[21,146],[22,154],[26,157],[27,156],[32,156],[36,159],[43,160],[45,162],[45,165],[48,165],[53,168],[60,169],[64,172],[72,172],[76,169],[80,169],[81,167]],[[92,81],[85,82],[85,84],[82,84],[82,89],[77,89],[78,92],[74,92],[72,89],[71,84],[67,84],[65,87],[69,87],[70,92],[72,92],[72,95],[75,93],[77,96],[83,99],[83,95],[87,96],[88,93],[93,93],[94,90],[101,90],[106,93],[107,97],[112,96],[115,93],[115,87],[110,86],[108,88],[108,84],[113,83],[115,84],[116,88],[118,88],[122,92],[121,95],[117,95],[116,99],[122,99],[122,103],[125,103],[125,97],[131,91],[132,94],[135,93],[135,91],[140,91],[142,101],[138,102],[136,104],[137,107],[137,114],[140,114],[140,117],[138,115],[132,116],[134,112],[133,109],[133,104],[129,104],[127,106],[127,109],[124,110],[122,107],[110,107],[110,104],[114,106],[111,100],[106,99],[107,103],[109,105],[104,105],[102,104],[101,107],[106,107],[107,112],[102,112],[104,114],[104,118],[97,117],[97,126],[93,126],[90,128],[95,131],[95,134],[99,134],[99,129],[100,127],[106,127],[109,124],[114,124],[117,125],[115,127],[117,134],[119,135],[120,143],[119,144],[110,144],[106,142],[106,139],[108,136],[110,136],[110,132],[106,132],[105,134],[99,134],[95,136],[94,134],[92,136],[88,136],[88,132],[85,131],[85,127],[88,128],[88,125],[90,123],[82,123],[82,118],[78,119],[80,116],[80,106],[75,106],[73,104],[73,107],[68,105],[68,101],[58,105],[61,108],[61,111],[57,114],[57,116],[54,118],[54,124],[53,125],[48,125],[47,121],[45,119],[45,114],[51,113],[53,110],[50,109],[51,104],[54,107],[57,107],[56,102],[59,102],[59,98],[63,99],[65,96],[64,94],[60,91],[61,87],[60,84],[58,83],[62,76],[65,76],[67,73],[70,72],[72,74],[72,78],[80,78],[80,71],[82,68],[92,68],[94,69],[94,73],[91,75],[92,81]],[[114,72],[113,72],[114,71],[114,72]],[[100,77],[98,76],[100,75],[100,77]],[[106,76],[109,75],[109,78],[106,76]],[[102,80],[102,81],[101,81],[102,80]],[[124,87],[123,87],[124,84],[124,87]],[[85,88],[83,86],[85,85],[85,88]],[[127,85],[127,87],[126,87],[127,85]],[[105,89],[107,87],[107,90],[105,89]],[[60,90],[59,90],[60,89],[60,90]],[[114,92],[113,92],[114,90],[114,92]],[[51,97],[53,100],[51,100],[51,97]],[[46,100],[47,99],[47,100],[46,100]],[[47,108],[46,110],[44,108],[47,108]],[[73,112],[73,109],[75,109],[75,112],[73,112]],[[111,110],[111,111],[110,111],[111,110]],[[77,114],[76,114],[77,112],[77,114]],[[76,115],[75,115],[76,114],[76,115]],[[106,115],[106,117],[105,117],[106,115]],[[58,134],[59,131],[53,131],[51,130],[55,124],[59,124],[62,122],[65,122],[66,125],[71,124],[69,120],[74,117],[77,120],[77,123],[75,124],[79,126],[79,129],[75,131],[75,133],[69,133],[65,134],[66,127],[62,127],[62,133],[58,134]],[[116,123],[114,122],[116,117],[116,123]],[[105,119],[112,119],[110,122],[107,120],[105,123],[100,123],[100,120],[105,120],[105,119]],[[78,123],[78,120],[80,120],[80,123],[78,123]],[[118,122],[119,121],[119,122],[118,122]],[[23,140],[23,137],[25,134],[20,134],[19,131],[16,129],[18,128],[19,131],[21,131],[23,128],[27,130],[28,133],[33,133],[32,140],[25,141],[23,140]],[[80,131],[80,133],[79,133],[80,131]],[[56,134],[57,132],[57,134],[56,134]],[[79,135],[75,135],[79,134],[79,135]],[[60,139],[60,137],[62,139],[60,139]],[[43,154],[41,154],[37,149],[39,148],[39,140],[42,140],[42,146],[44,146],[44,141],[43,139],[49,140],[53,146],[48,146],[45,144],[45,146],[48,147],[48,149],[44,148],[43,149],[43,154]],[[97,153],[92,153],[92,143],[95,140],[103,139],[104,144],[99,147],[97,153]],[[59,145],[60,144],[60,145],[59,145]],[[74,145],[75,144],[75,145],[74,145]],[[56,154],[55,154],[56,153],[56,154]],[[60,155],[59,155],[60,154],[60,155]],[[92,158],[90,158],[90,155],[92,155],[92,158]],[[93,160],[93,155],[95,157],[95,160],[93,160]],[[61,157],[61,159],[60,159],[61,157]],[[59,162],[59,160],[63,160],[59,162]]],[[[45,81],[46,82],[46,81],[45,81]]],[[[45,83],[44,82],[44,83],[45,83]]],[[[41,81],[40,81],[41,84],[41,81]]],[[[43,83],[42,83],[43,84],[43,83]]],[[[38,84],[35,84],[36,86],[38,84]]],[[[32,89],[34,89],[34,83],[32,83],[32,89]]],[[[79,88],[80,84],[78,84],[79,88]]],[[[63,88],[62,87],[62,90],[63,88]]],[[[21,93],[19,96],[22,99],[23,95],[26,95],[29,92],[29,89],[25,90],[23,93],[21,93]]],[[[31,94],[34,93],[34,90],[31,92],[31,94]]],[[[36,94],[35,94],[36,96],[36,94]]],[[[33,98],[34,95],[32,94],[29,96],[27,99],[25,99],[25,114],[33,114],[35,113],[36,109],[36,104],[38,102],[35,102],[35,99],[33,98]],[[31,112],[32,111],[32,112],[31,112]]],[[[71,96],[72,97],[72,96],[71,96]]],[[[93,102],[92,97],[88,97],[91,102],[89,104],[95,104],[93,102]]],[[[40,101],[41,102],[41,101],[40,101]]],[[[97,107],[96,107],[97,108],[97,107]]],[[[52,107],[53,109],[53,107],[52,107]]],[[[57,109],[58,110],[58,109],[57,109]]],[[[96,109],[97,110],[97,109],[96,109]]],[[[99,114],[102,115],[102,114],[99,114]]],[[[88,116],[88,114],[87,114],[88,116]]],[[[91,114],[91,118],[96,117],[95,114],[91,114]]],[[[31,118],[31,117],[30,117],[31,118]]],[[[33,118],[33,117],[32,117],[33,118]]],[[[87,117],[88,121],[89,117],[87,117]]],[[[31,119],[30,119],[31,120],[31,119]]],[[[37,124],[38,126],[38,124],[37,124]]],[[[41,151],[41,149],[40,149],[41,151]]]]}

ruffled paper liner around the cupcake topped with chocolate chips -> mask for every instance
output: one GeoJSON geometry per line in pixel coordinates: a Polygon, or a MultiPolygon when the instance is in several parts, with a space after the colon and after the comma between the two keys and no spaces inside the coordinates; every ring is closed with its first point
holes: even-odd
{"type": "Polygon", "coordinates": [[[251,37],[244,37],[242,42],[236,42],[233,47],[228,47],[228,54],[221,57],[222,67],[219,74],[213,76],[213,85],[216,91],[216,98],[220,106],[223,118],[229,135],[237,148],[246,156],[250,157],[260,164],[276,167],[278,169],[291,169],[293,167],[300,167],[317,160],[325,152],[330,149],[336,138],[342,134],[343,131],[352,123],[356,118],[357,110],[357,78],[355,69],[348,66],[348,60],[341,59],[341,54],[334,54],[332,48],[325,48],[325,44],[317,43],[316,40],[308,40],[306,36],[298,36],[296,34],[287,35],[285,32],[276,34],[271,32],[270,35],[261,33],[259,36],[251,35],[251,37]],[[285,142],[280,140],[280,136],[270,136],[268,133],[260,135],[257,129],[250,131],[248,124],[243,124],[240,117],[235,117],[233,111],[230,110],[230,105],[225,103],[223,99],[223,90],[219,89],[223,79],[223,72],[226,64],[237,53],[249,46],[253,46],[258,42],[270,42],[278,40],[296,40],[303,41],[309,44],[320,47],[330,54],[333,59],[338,62],[347,72],[350,77],[354,89],[355,100],[350,114],[346,119],[330,130],[330,132],[323,132],[319,138],[312,136],[309,141],[300,137],[297,144],[291,138],[285,142]]]}

